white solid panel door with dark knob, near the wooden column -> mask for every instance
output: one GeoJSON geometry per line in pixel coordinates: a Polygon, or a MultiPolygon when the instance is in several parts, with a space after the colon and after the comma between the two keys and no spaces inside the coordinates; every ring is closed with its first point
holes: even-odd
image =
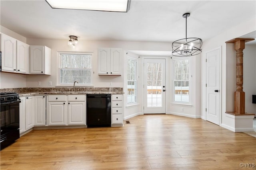
{"type": "Polygon", "coordinates": [[[220,125],[220,49],[206,53],[206,120],[220,125]]]}

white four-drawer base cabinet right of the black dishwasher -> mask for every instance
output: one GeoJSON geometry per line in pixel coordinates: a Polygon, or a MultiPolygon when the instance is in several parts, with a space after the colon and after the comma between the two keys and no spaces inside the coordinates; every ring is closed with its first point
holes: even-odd
{"type": "Polygon", "coordinates": [[[111,124],[123,125],[123,95],[113,94],[111,96],[111,124]]]}

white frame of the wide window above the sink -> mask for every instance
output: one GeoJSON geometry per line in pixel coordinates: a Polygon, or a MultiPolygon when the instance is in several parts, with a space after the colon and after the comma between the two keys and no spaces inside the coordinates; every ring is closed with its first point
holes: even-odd
{"type": "MultiPolygon", "coordinates": [[[[71,84],[61,84],[60,83],[60,70],[61,70],[61,55],[62,54],[71,54],[71,55],[91,55],[91,68],[89,68],[91,70],[91,74],[90,74],[90,77],[91,77],[91,83],[90,84],[81,84],[81,83],[78,83],[76,84],[76,86],[94,86],[93,85],[93,78],[92,78],[92,75],[93,75],[93,65],[92,65],[92,59],[93,59],[93,53],[92,52],[58,52],[57,53],[57,64],[58,64],[58,67],[56,68],[57,69],[57,84],[56,86],[74,86],[74,83],[71,83],[71,84]]],[[[73,68],[71,68],[73,69],[73,68]]],[[[79,68],[79,70],[81,70],[79,68]]],[[[86,70],[88,70],[88,68],[86,68],[86,70]]]]}

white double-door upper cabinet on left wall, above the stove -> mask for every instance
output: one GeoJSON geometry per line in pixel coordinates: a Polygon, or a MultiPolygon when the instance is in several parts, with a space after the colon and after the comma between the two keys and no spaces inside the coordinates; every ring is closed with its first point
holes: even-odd
{"type": "Polygon", "coordinates": [[[1,34],[2,71],[29,73],[29,45],[1,34]]]}

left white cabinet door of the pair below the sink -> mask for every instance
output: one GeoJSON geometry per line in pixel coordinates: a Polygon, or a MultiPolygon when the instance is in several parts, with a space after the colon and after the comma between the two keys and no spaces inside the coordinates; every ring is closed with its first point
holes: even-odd
{"type": "Polygon", "coordinates": [[[48,125],[66,125],[66,102],[48,102],[48,125]]]}

